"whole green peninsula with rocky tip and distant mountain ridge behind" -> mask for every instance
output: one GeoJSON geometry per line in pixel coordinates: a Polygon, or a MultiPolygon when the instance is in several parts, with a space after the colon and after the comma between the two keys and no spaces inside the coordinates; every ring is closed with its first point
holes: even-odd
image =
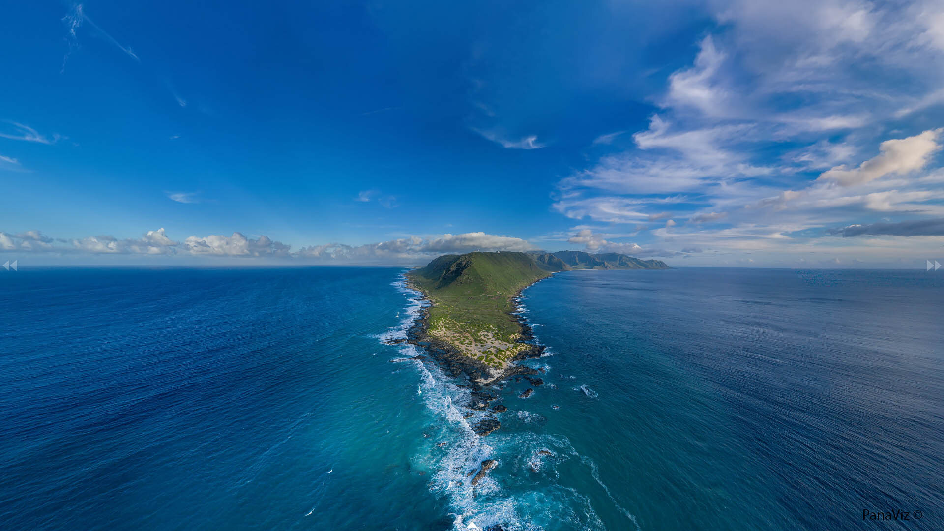
{"type": "Polygon", "coordinates": [[[407,273],[407,280],[430,300],[420,337],[440,351],[487,368],[489,377],[480,378],[484,383],[505,375],[514,359],[540,355],[527,342],[530,330],[513,315],[514,298],[531,283],[571,269],[667,267],[660,260],[615,252],[469,252],[440,256],[407,273]]]}

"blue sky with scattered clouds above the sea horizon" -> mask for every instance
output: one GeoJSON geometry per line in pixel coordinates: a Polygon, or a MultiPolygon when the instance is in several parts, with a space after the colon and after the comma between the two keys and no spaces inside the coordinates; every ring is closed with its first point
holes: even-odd
{"type": "Polygon", "coordinates": [[[944,3],[15,2],[0,260],[944,257],[944,3]]]}

